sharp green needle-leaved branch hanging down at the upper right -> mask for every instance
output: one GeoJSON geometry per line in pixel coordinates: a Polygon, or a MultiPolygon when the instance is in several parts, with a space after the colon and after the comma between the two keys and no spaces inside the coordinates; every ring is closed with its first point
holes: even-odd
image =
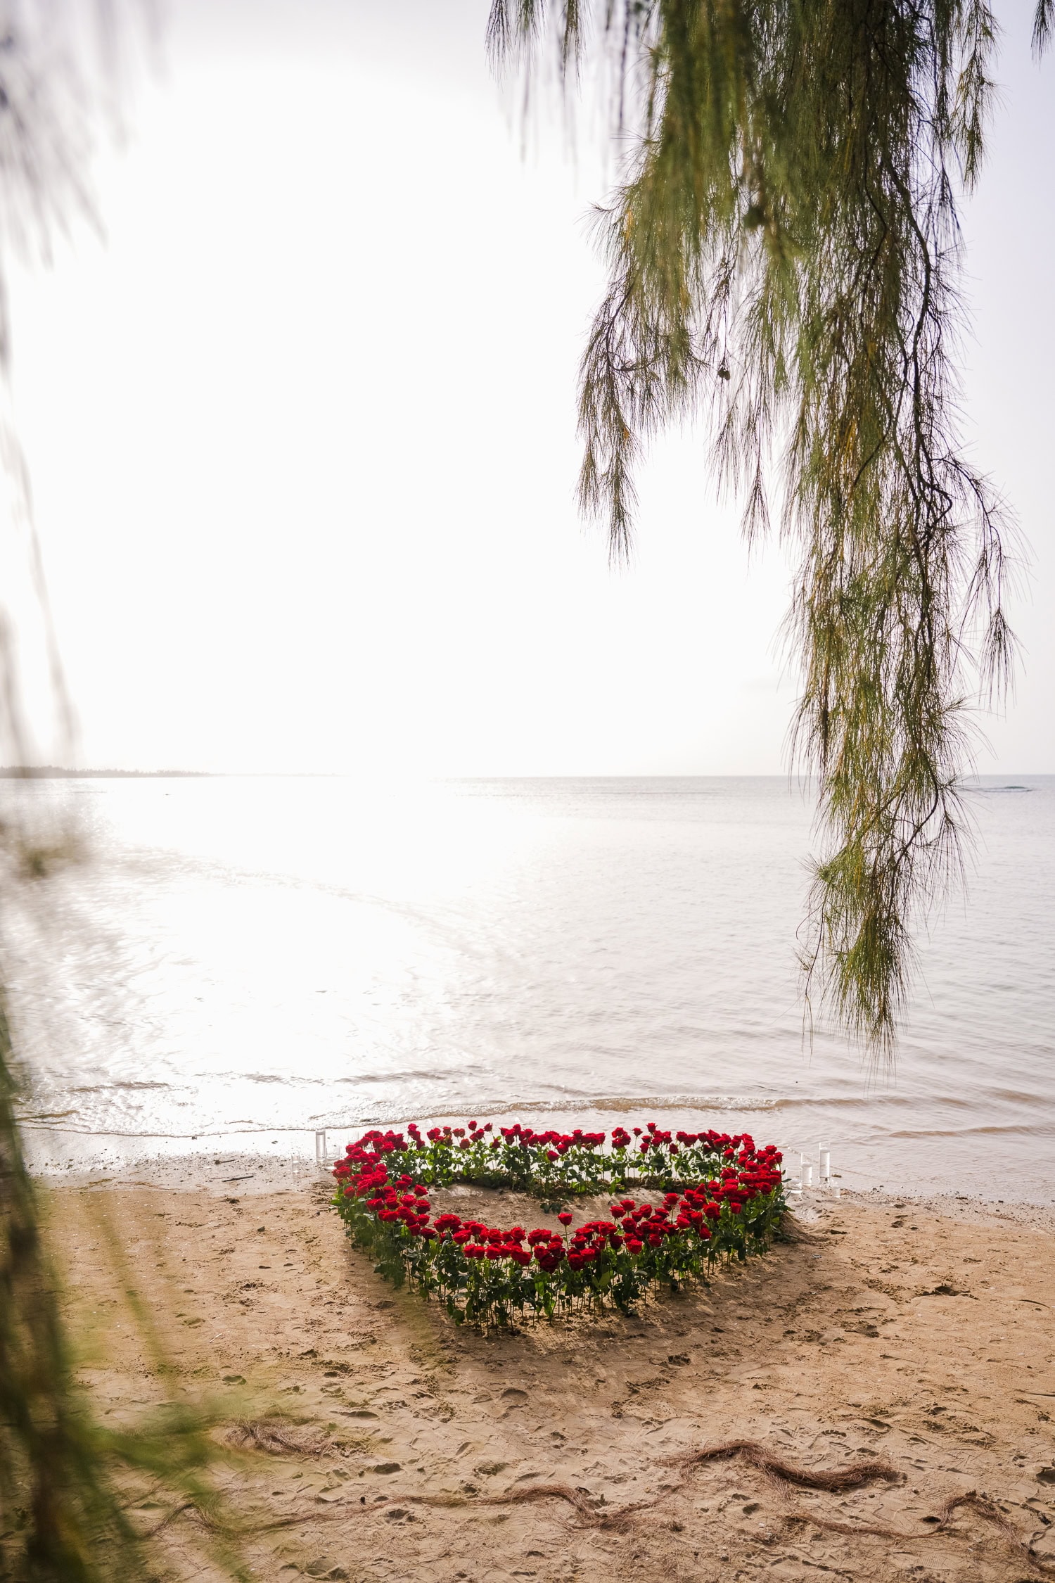
{"type": "MultiPolygon", "coordinates": [[[[1041,0],[1042,44],[1050,3],[1041,0]]],[[[807,1005],[892,1050],[913,924],[963,864],[973,695],[1000,692],[1008,521],[957,437],[955,195],[977,177],[984,0],[493,0],[501,60],[620,57],[636,114],[599,218],[609,290],[582,359],[580,503],[626,554],[642,443],[710,421],[748,535],[799,570],[792,761],[816,777],[807,1005]]]]}

